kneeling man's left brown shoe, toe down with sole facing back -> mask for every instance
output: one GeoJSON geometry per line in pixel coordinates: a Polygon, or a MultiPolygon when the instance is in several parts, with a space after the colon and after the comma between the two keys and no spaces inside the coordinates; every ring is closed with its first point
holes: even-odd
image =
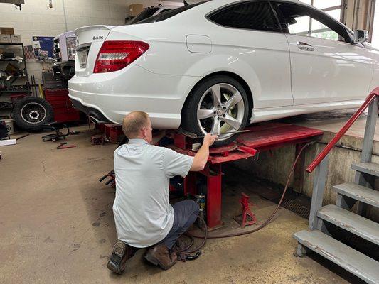
{"type": "Polygon", "coordinates": [[[117,274],[122,274],[125,269],[125,263],[129,258],[134,256],[138,249],[133,246],[129,246],[122,241],[117,241],[113,247],[112,256],[108,261],[108,269],[117,274]]]}

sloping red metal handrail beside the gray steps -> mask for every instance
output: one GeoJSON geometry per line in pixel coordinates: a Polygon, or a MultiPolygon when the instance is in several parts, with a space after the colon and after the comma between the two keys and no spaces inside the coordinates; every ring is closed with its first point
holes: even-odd
{"type": "Polygon", "coordinates": [[[342,136],[346,133],[346,131],[350,129],[351,125],[354,122],[356,122],[356,120],[359,118],[359,116],[361,116],[363,111],[367,109],[368,105],[371,102],[373,102],[373,100],[377,96],[379,96],[379,87],[376,87],[375,89],[373,89],[373,92],[371,92],[368,95],[368,97],[365,99],[365,102],[356,111],[356,113],[353,114],[353,116],[351,116],[351,118],[346,122],[346,124],[341,128],[341,130],[338,131],[338,133],[336,133],[336,136],[334,136],[333,139],[331,139],[331,141],[325,146],[323,151],[321,151],[319,155],[317,155],[317,157],[313,160],[313,162],[308,166],[308,168],[306,168],[306,171],[308,173],[312,173],[313,170],[319,165],[319,163],[321,163],[321,161],[324,160],[326,155],[328,155],[329,152],[331,151],[331,148],[333,148],[336,145],[336,143],[342,138],[342,136]]]}

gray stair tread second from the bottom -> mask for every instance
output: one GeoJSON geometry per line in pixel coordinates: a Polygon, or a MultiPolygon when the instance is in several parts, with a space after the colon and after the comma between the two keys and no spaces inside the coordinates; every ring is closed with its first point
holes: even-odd
{"type": "Polygon", "coordinates": [[[322,207],[317,217],[379,245],[379,224],[376,222],[333,204],[322,207]]]}

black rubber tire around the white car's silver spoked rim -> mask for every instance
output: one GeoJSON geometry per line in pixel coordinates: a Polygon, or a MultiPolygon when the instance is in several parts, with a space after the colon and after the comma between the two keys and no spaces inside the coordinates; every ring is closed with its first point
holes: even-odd
{"type": "MultiPolygon", "coordinates": [[[[240,125],[240,128],[237,130],[242,130],[245,128],[247,124],[247,119],[250,117],[249,100],[247,99],[247,93],[245,89],[239,82],[237,82],[237,80],[233,79],[232,77],[228,77],[225,75],[215,75],[204,80],[203,82],[201,82],[201,84],[198,84],[196,87],[192,89],[191,93],[188,95],[188,99],[186,100],[186,103],[183,106],[183,110],[181,111],[181,127],[183,129],[196,133],[198,135],[204,135],[204,132],[201,130],[201,126],[198,124],[198,104],[200,103],[203,94],[205,94],[205,92],[215,84],[230,84],[235,89],[237,89],[238,92],[240,92],[244,103],[244,112],[242,123],[240,125]]],[[[224,140],[215,141],[215,143],[213,143],[213,147],[228,145],[235,141],[235,138],[237,138],[237,136],[238,134],[234,134],[233,136],[224,138],[224,140]]]]}

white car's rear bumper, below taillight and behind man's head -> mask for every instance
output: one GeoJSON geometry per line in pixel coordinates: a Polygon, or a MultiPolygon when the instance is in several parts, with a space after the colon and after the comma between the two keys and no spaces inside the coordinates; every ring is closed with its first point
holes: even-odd
{"type": "Polygon", "coordinates": [[[116,72],[75,75],[68,90],[75,107],[100,121],[121,124],[130,111],[145,111],[154,128],[177,129],[186,95],[197,80],[129,65],[116,72]]]}

